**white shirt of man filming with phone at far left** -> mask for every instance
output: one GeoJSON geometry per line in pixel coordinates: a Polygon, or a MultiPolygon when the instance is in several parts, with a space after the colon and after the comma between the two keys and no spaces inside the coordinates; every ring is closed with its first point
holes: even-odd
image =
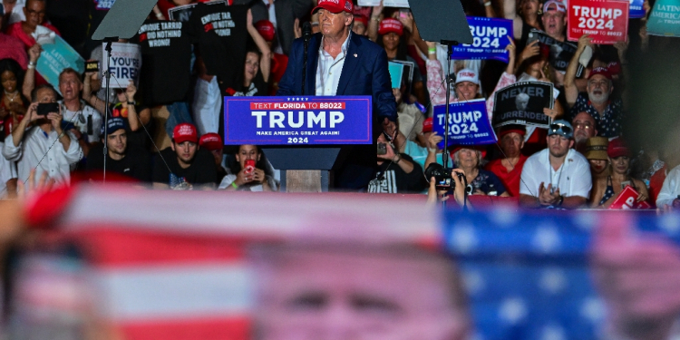
{"type": "Polygon", "coordinates": [[[83,150],[72,132],[65,133],[71,139],[68,151],[63,150],[56,131],[47,133],[39,126],[34,126],[24,132],[24,139],[18,146],[15,146],[12,135],[8,135],[3,155],[7,160],[17,162],[17,177],[21,181],[27,180],[31,170],[37,167],[37,178],[47,172],[50,179],[57,183],[70,183],[71,165],[83,159],[83,150]]]}

